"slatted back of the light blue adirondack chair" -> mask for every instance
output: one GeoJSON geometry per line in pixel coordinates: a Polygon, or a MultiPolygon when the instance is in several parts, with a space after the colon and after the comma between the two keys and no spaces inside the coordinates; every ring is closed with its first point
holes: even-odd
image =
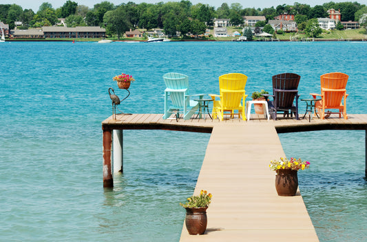
{"type": "Polygon", "coordinates": [[[185,106],[185,95],[189,94],[189,77],[185,74],[169,72],[163,75],[166,87],[172,90],[187,89],[186,92],[170,92],[169,97],[176,107],[185,106]]]}

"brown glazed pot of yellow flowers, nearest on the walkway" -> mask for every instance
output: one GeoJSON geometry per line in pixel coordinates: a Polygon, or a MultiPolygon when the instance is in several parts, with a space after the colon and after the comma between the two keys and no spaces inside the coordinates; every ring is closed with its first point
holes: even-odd
{"type": "Polygon", "coordinates": [[[207,208],[211,194],[201,190],[200,195],[190,196],[186,203],[180,203],[186,210],[185,223],[189,234],[204,234],[207,229],[207,208]]]}

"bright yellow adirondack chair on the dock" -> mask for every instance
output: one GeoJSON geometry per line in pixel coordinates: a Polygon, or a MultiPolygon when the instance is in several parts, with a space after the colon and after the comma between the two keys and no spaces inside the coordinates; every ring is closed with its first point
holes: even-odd
{"type": "Polygon", "coordinates": [[[244,91],[246,82],[247,76],[240,73],[229,73],[219,77],[220,94],[209,94],[213,99],[213,119],[218,117],[223,120],[224,112],[229,112],[233,118],[236,114],[235,110],[238,110],[238,118],[240,119],[242,115],[242,119],[246,120],[244,114],[244,103],[247,97],[244,91]]]}

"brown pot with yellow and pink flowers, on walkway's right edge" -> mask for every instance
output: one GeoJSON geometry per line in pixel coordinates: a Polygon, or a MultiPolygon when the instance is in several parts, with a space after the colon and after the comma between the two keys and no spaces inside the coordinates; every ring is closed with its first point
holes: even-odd
{"type": "Polygon", "coordinates": [[[298,188],[297,171],[307,169],[310,166],[308,161],[301,159],[291,160],[280,158],[280,160],[270,161],[269,168],[277,172],[275,176],[275,189],[279,196],[294,196],[298,188]]]}

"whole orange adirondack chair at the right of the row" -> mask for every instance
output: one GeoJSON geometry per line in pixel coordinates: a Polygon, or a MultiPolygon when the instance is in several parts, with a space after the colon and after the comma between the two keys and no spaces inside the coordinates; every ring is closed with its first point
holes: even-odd
{"type": "Polygon", "coordinates": [[[321,94],[311,93],[313,98],[321,97],[321,101],[315,102],[315,108],[319,112],[322,119],[327,118],[330,114],[339,114],[339,118],[348,119],[346,115],[346,82],[348,75],[341,72],[333,72],[323,74],[321,78],[321,94]],[[327,112],[325,110],[337,109],[339,112],[327,112]]]}

